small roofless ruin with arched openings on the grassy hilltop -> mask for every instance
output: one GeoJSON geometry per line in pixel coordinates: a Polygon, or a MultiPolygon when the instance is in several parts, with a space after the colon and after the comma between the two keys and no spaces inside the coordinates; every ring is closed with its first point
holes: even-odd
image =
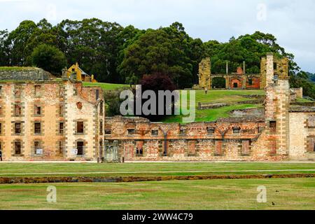
{"type": "MultiPolygon", "coordinates": [[[[195,85],[197,89],[207,88],[208,90],[218,88],[214,85],[215,78],[221,78],[225,82],[225,88],[227,90],[236,89],[236,90],[255,90],[265,89],[267,82],[267,69],[266,69],[266,58],[262,58],[260,63],[260,73],[246,73],[245,62],[243,69],[239,67],[236,73],[229,73],[228,62],[226,64],[226,73],[225,74],[214,74],[211,73],[211,59],[207,57],[200,62],[199,65],[199,84],[195,85]]],[[[277,59],[274,58],[274,75],[277,76],[281,73],[288,72],[288,59],[277,59]]],[[[220,88],[220,87],[219,87],[220,88]]]]}

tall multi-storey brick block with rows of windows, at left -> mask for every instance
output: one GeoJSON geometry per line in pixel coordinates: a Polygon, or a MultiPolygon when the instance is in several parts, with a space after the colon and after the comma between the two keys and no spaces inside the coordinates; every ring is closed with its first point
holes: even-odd
{"type": "Polygon", "coordinates": [[[101,88],[42,69],[0,68],[3,160],[97,160],[103,127],[101,88]]]}

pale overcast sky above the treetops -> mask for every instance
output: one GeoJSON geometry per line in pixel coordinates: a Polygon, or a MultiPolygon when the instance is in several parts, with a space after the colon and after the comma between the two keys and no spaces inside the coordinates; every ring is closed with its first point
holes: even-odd
{"type": "Polygon", "coordinates": [[[305,71],[315,73],[314,0],[0,0],[0,29],[22,20],[99,18],[140,29],[183,23],[203,41],[228,41],[259,30],[274,34],[305,71]]]}

